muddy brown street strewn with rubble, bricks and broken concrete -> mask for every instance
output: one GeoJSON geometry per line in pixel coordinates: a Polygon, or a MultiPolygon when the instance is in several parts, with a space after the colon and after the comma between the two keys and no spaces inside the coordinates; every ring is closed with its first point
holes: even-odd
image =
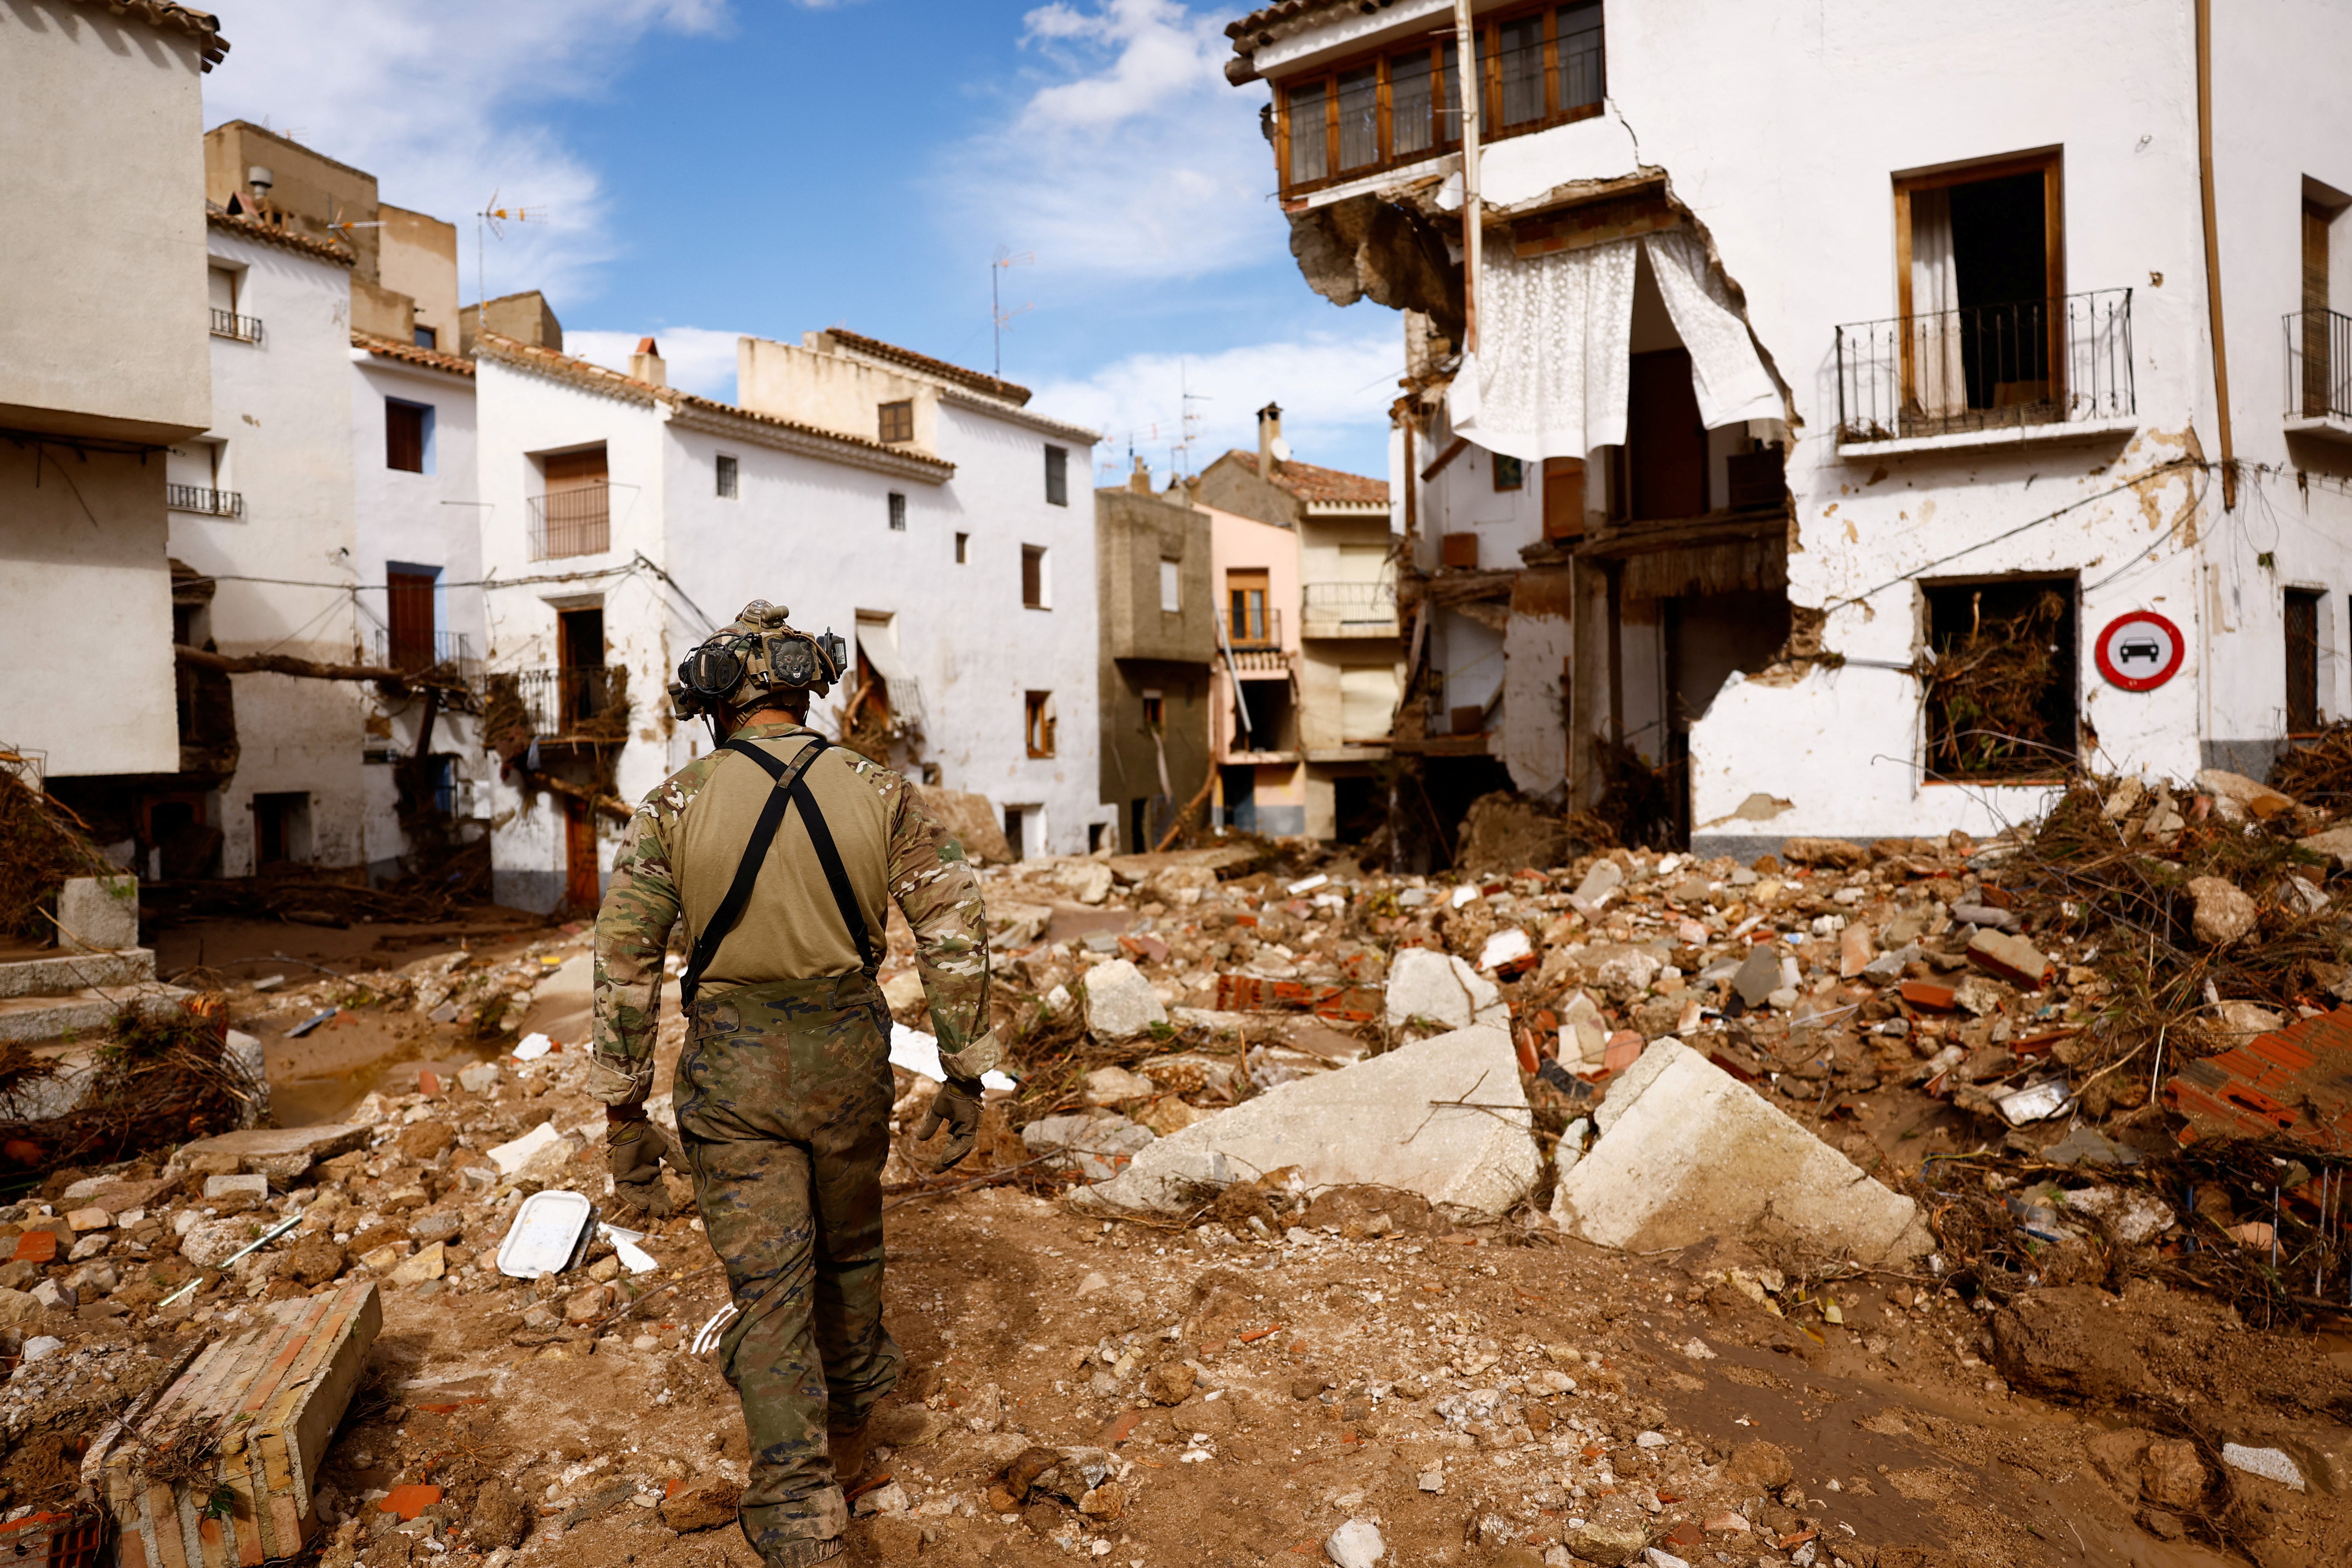
{"type": "MultiPolygon", "coordinates": [[[[2352,1552],[2326,809],[2209,773],[1980,844],[1557,867],[1515,811],[1463,877],[1247,839],[985,867],[1011,1077],[929,1175],[894,1067],[908,1375],[858,1561],[2352,1552]]],[[[306,1081],[365,1020],[372,1088],[5,1211],[7,1505],[143,1474],[148,1530],[158,1486],[198,1535],[282,1497],[329,1563],[753,1561],[699,1220],[607,1220],[588,931],[280,969],[221,983],[226,1027],[306,1081]],[[174,1455],[193,1352],[332,1302],[339,1420],[249,1481],[219,1434],[174,1455]]],[[[677,1046],[670,1011],[656,1117],[677,1046]]]]}

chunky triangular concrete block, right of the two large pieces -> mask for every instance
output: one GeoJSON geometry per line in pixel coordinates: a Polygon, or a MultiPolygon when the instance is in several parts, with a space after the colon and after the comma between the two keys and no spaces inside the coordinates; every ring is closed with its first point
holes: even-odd
{"type": "Polygon", "coordinates": [[[1682,1041],[1661,1039],[1628,1067],[1595,1121],[1599,1140],[1552,1199],[1552,1220],[1588,1241],[1656,1251],[1776,1237],[1872,1265],[1933,1251],[1917,1204],[1682,1041]]]}

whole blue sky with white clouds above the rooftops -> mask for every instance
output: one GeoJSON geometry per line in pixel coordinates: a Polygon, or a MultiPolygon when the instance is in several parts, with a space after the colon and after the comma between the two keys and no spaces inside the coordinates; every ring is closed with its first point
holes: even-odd
{"type": "Polygon", "coordinates": [[[541,287],[567,346],[734,393],[741,331],[844,324],[988,369],[990,259],[1004,374],[1033,407],[1164,477],[1254,442],[1284,404],[1294,451],[1385,470],[1399,322],[1338,310],[1289,259],[1265,89],[1221,66],[1232,9],[1174,0],[223,0],[207,125],[266,120],[369,169],[386,200],[463,226],[503,202],[543,223],[489,240],[492,294],[541,287]]]}

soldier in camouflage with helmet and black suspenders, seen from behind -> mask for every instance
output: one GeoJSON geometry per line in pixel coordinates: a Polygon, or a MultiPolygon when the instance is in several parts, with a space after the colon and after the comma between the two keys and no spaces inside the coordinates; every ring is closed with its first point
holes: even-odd
{"type": "Polygon", "coordinates": [[[680,919],[706,961],[689,961],[699,987],[682,987],[677,1131],[739,1312],[720,1349],[753,1450],[743,1535],[769,1568],[842,1552],[842,1486],[863,1465],[868,1415],[898,1380],[882,1328],[884,891],[915,931],[948,1070],[917,1131],[948,1126],[941,1168],[971,1150],[978,1077],[997,1065],[988,931],[962,846],[898,773],[807,729],[809,691],[840,679],[842,658],[837,637],[795,632],[781,609],[753,602],[680,665],[680,710],[708,715],[734,750],[644,797],[595,924],[590,1084],[607,1105],[614,1194],[654,1213],[668,1213],[661,1159],[675,1150],[644,1098],[663,947],[680,919]],[[743,745],[769,762],[739,755],[743,745]],[[774,795],[788,809],[779,804],[771,846],[750,863],[774,795]],[[849,905],[861,929],[849,929],[849,905]]]}

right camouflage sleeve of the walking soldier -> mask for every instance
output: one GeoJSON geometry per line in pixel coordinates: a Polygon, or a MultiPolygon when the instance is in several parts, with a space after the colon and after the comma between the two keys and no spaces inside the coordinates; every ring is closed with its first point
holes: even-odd
{"type": "Polygon", "coordinates": [[[950,1077],[976,1079],[997,1065],[988,1030],[988,919],[981,879],[964,846],[901,788],[891,804],[889,896],[915,933],[915,971],[931,1001],[938,1060],[950,1077]]]}

